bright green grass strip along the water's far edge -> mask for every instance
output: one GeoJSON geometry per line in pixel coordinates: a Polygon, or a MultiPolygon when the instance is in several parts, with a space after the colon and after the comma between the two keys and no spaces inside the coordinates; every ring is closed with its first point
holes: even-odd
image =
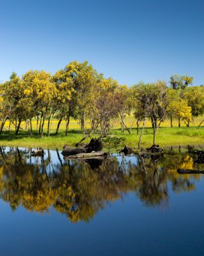
{"type": "MultiPolygon", "coordinates": [[[[138,146],[138,139],[136,129],[132,129],[132,133],[129,134],[125,131],[125,134],[121,134],[120,129],[112,129],[104,141],[105,148],[119,148],[128,144],[131,147],[138,146]]],[[[99,137],[94,134],[93,137],[99,137]]],[[[0,136],[1,146],[18,146],[25,148],[50,148],[50,149],[62,149],[64,145],[74,146],[82,138],[80,129],[72,129],[68,132],[68,136],[64,135],[64,130],[61,130],[58,135],[54,132],[50,134],[50,137],[44,135],[40,137],[37,131],[33,131],[30,135],[28,131],[19,131],[18,135],[14,134],[14,131],[3,131],[0,136]]],[[[144,129],[144,135],[142,136],[141,147],[148,147],[152,145],[153,129],[148,127],[144,129]]],[[[89,138],[87,139],[89,141],[89,138]]],[[[204,141],[204,127],[160,127],[156,135],[156,143],[163,146],[174,145],[199,145],[204,141]]],[[[85,141],[86,142],[86,141],[85,141]]]]}

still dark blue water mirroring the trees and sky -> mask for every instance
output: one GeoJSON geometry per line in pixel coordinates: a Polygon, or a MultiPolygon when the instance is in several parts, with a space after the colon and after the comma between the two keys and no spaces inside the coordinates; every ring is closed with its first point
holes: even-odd
{"type": "Polygon", "coordinates": [[[162,158],[66,160],[0,148],[0,255],[204,255],[204,170],[162,158]]]}

